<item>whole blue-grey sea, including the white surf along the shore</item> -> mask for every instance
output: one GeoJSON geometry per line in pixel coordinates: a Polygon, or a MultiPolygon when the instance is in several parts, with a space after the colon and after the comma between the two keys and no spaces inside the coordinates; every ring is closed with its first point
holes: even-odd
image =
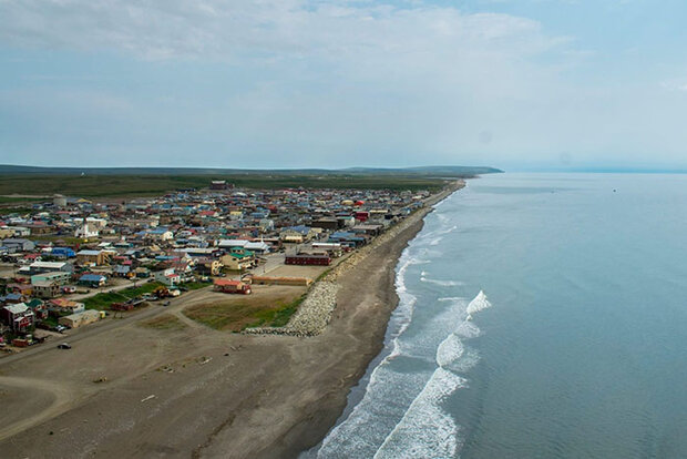
{"type": "Polygon", "coordinates": [[[686,230],[685,175],[471,181],[404,252],[387,349],[307,456],[687,457],[686,230]]]}

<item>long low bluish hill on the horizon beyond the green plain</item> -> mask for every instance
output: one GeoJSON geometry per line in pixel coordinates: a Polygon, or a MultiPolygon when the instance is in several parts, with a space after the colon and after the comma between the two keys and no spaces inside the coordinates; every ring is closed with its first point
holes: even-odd
{"type": "Polygon", "coordinates": [[[348,169],[206,169],[206,167],[40,167],[0,164],[0,175],[417,175],[464,177],[503,172],[486,166],[348,167],[348,169]]]}

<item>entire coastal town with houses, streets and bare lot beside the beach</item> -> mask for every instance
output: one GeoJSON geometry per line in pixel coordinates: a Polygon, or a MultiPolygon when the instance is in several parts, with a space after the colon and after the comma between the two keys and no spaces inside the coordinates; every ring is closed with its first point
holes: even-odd
{"type": "Polygon", "coordinates": [[[283,326],[298,302],[275,302],[270,288],[307,292],[429,196],[423,190],[249,190],[216,180],[160,197],[54,195],[22,212],[6,208],[0,355],[45,340],[69,348],[63,341],[73,329],[164,308],[203,288],[238,295],[257,288],[276,303],[268,313],[279,320],[266,323],[263,314],[230,330],[283,326]]]}

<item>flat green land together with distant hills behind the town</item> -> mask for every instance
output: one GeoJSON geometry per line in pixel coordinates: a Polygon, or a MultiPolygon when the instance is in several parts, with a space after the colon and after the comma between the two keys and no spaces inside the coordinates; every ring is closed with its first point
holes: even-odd
{"type": "MultiPolygon", "coordinates": [[[[247,188],[360,188],[430,190],[447,180],[500,172],[491,167],[411,167],[348,170],[222,170],[222,169],[76,169],[0,165],[1,195],[84,197],[150,196],[183,188],[205,188],[213,180],[225,180],[247,188]]],[[[33,198],[6,197],[0,204],[33,198]]],[[[23,201],[22,201],[23,200],[23,201]]]]}

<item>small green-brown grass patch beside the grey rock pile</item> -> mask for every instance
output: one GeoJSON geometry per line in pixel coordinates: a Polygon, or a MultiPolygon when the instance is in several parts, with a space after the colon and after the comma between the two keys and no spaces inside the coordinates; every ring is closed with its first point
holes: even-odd
{"type": "Polygon", "coordinates": [[[280,294],[276,297],[240,297],[239,300],[225,300],[203,304],[184,310],[186,317],[205,324],[211,328],[240,332],[250,327],[283,327],[305,294],[280,294]]]}

